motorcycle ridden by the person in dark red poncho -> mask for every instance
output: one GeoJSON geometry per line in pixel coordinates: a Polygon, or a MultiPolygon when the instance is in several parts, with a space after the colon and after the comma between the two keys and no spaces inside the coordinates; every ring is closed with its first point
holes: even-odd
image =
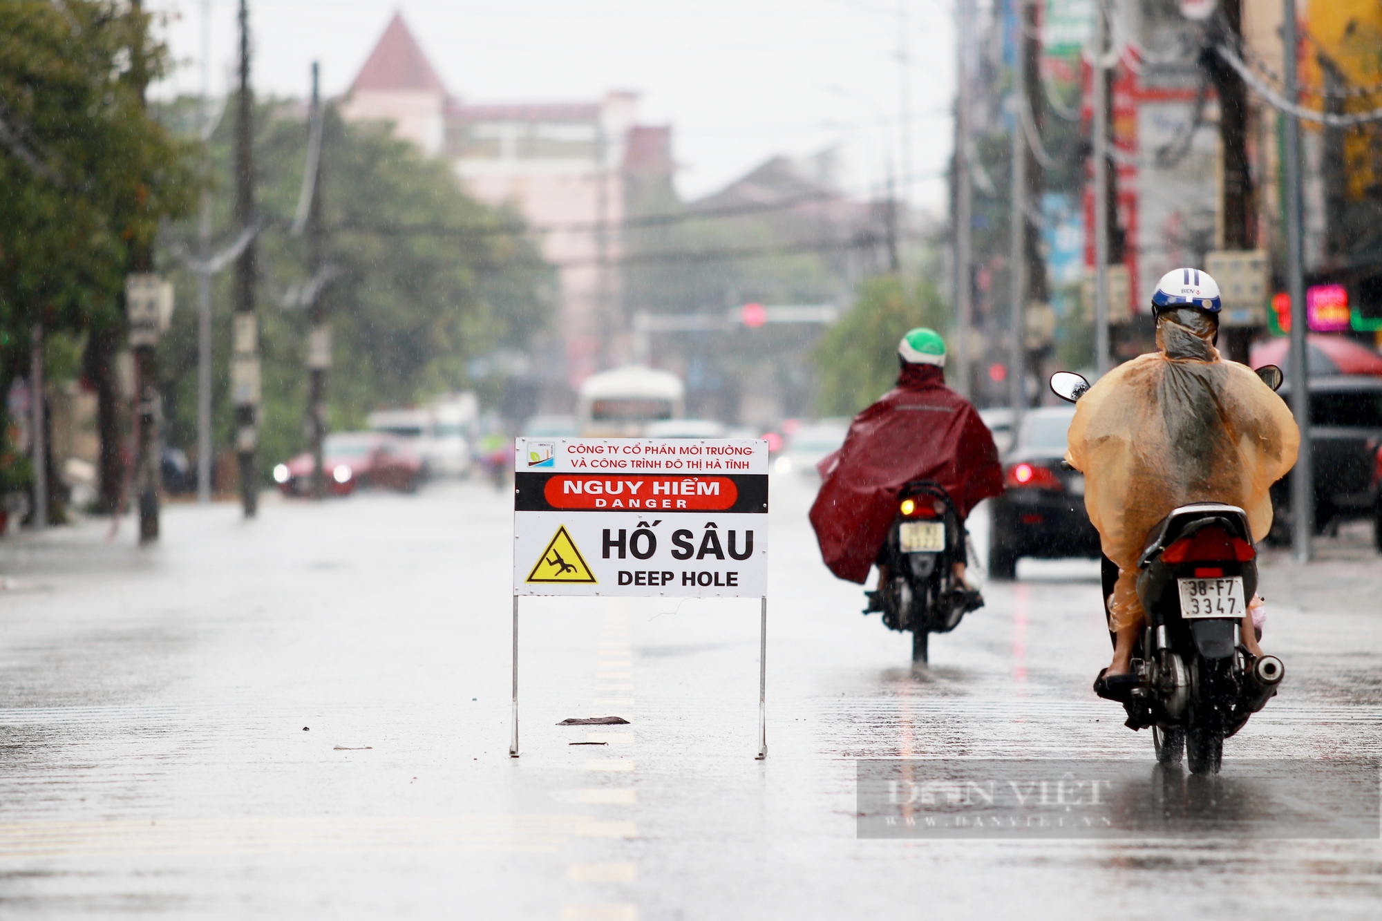
{"type": "Polygon", "coordinates": [[[949,494],[936,483],[914,480],[898,492],[879,553],[879,586],[864,593],[864,614],[882,611],[884,626],[911,631],[914,662],[927,661],[931,633],[948,633],[984,606],[978,592],[955,578],[967,537],[949,494]]]}

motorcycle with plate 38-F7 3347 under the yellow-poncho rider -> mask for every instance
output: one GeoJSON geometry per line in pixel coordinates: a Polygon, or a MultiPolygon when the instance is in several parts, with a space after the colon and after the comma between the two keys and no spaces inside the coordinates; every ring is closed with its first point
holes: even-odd
{"type": "MultiPolygon", "coordinates": [[[[1281,386],[1276,365],[1258,375],[1273,390],[1281,386]]],[[[1050,389],[1075,402],[1089,382],[1059,372],[1050,389]]],[[[1106,560],[1106,606],[1110,566],[1106,560]]],[[[1151,727],[1161,765],[1177,766],[1184,756],[1191,773],[1219,773],[1223,740],[1242,729],[1285,678],[1280,658],[1255,657],[1242,644],[1242,617],[1258,589],[1248,514],[1219,502],[1173,509],[1151,530],[1137,568],[1147,625],[1133,649],[1136,683],[1124,701],[1126,726],[1151,727]]]]}

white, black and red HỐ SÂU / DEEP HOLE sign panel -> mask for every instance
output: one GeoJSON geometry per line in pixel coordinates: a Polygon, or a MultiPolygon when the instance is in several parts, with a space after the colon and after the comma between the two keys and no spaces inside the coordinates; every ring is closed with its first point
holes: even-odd
{"type": "Polygon", "coordinates": [[[514,595],[763,597],[768,444],[518,438],[514,595]]]}

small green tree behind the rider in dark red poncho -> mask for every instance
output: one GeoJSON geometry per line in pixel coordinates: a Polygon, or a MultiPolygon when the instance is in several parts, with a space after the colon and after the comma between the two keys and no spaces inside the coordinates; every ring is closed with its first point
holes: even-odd
{"type": "Polygon", "coordinates": [[[815,347],[821,415],[851,416],[887,393],[897,380],[897,343],[908,329],[930,326],[944,336],[949,325],[949,310],[929,278],[912,290],[897,275],[865,281],[854,307],[815,347]]]}

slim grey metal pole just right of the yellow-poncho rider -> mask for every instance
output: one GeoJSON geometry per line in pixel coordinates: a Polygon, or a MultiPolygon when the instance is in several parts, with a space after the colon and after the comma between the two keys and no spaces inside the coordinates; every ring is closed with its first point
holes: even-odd
{"type": "MultiPolygon", "coordinates": [[[[1281,62],[1287,101],[1299,101],[1296,89],[1296,10],[1295,0],[1284,0],[1281,15],[1281,62]]],[[[1291,413],[1300,429],[1300,452],[1291,472],[1291,548],[1296,563],[1310,561],[1314,537],[1314,456],[1310,443],[1310,362],[1306,358],[1305,256],[1302,246],[1303,216],[1300,207],[1300,122],[1289,109],[1281,112],[1285,144],[1285,227],[1287,292],[1291,295],[1291,413]]]]}

